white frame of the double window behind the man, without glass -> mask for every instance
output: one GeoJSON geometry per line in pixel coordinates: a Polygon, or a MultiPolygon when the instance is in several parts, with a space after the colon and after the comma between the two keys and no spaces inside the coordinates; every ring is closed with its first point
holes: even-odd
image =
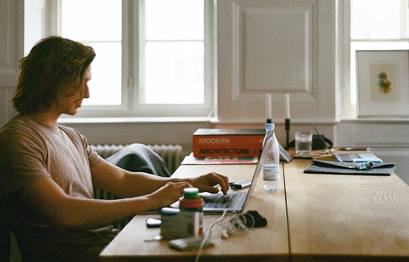
{"type": "MultiPolygon", "coordinates": [[[[46,0],[50,10],[49,32],[59,34],[60,1],[46,0]]],[[[140,93],[140,39],[143,1],[122,0],[122,104],[120,106],[83,105],[76,116],[62,118],[101,117],[212,117],[215,115],[215,11],[212,0],[205,4],[205,102],[202,104],[143,104],[140,93]]],[[[48,31],[48,30],[44,30],[48,31]]],[[[97,54],[98,56],[98,54],[97,54]]],[[[91,94],[92,95],[92,94],[91,94]]]]}

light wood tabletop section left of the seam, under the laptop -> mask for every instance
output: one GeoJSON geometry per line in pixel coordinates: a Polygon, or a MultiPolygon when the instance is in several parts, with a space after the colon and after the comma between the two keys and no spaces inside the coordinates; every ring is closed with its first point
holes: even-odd
{"type": "MultiPolygon", "coordinates": [[[[188,177],[208,172],[229,176],[230,181],[251,179],[255,164],[245,165],[181,165],[173,174],[188,177]]],[[[282,165],[281,165],[282,171],[282,165]]],[[[281,172],[282,173],[282,172],[281,172]]],[[[281,174],[282,175],[282,174],[281,174]]],[[[281,180],[283,184],[283,179],[281,180]]],[[[248,188],[243,189],[248,190],[248,188]]],[[[265,192],[262,176],[247,203],[244,212],[256,210],[267,219],[267,226],[252,228],[249,232],[237,232],[227,239],[221,238],[221,225],[212,227],[210,239],[213,247],[202,249],[199,261],[288,261],[288,231],[284,187],[275,192],[265,192]]],[[[197,250],[176,251],[168,247],[167,241],[149,241],[160,234],[159,228],[147,228],[146,218],[159,218],[158,212],[135,216],[118,236],[101,253],[106,261],[194,261],[197,250]]],[[[226,215],[223,223],[229,223],[232,215],[226,215]]],[[[205,215],[204,230],[220,218],[220,215],[205,215]]]]}

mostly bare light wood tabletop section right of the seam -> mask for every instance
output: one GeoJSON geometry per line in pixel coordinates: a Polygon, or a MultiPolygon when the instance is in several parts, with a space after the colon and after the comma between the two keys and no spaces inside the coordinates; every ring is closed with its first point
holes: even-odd
{"type": "Polygon", "coordinates": [[[391,176],[304,174],[284,164],[292,261],[409,260],[409,186],[391,176]]]}

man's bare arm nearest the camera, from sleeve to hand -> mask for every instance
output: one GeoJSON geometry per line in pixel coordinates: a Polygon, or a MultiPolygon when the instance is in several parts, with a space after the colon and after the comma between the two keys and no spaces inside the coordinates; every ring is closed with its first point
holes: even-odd
{"type": "Polygon", "coordinates": [[[151,194],[118,200],[70,197],[51,177],[42,178],[9,196],[38,218],[56,229],[95,229],[111,225],[139,212],[157,210],[178,200],[187,182],[168,183],[151,194]],[[14,199],[13,199],[14,198],[14,199]]]}

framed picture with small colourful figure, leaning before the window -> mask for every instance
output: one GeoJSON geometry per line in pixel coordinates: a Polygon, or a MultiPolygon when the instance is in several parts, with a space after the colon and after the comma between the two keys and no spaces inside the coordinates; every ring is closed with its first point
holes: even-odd
{"type": "Polygon", "coordinates": [[[358,117],[409,116],[409,51],[357,50],[358,117]]]}

